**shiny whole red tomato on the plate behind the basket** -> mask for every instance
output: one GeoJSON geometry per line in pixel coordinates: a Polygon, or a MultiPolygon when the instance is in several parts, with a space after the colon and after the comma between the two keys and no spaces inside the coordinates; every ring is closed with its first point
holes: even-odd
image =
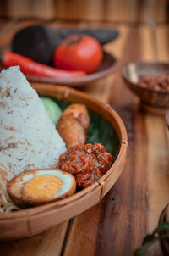
{"type": "Polygon", "coordinates": [[[91,36],[68,36],[55,50],[54,65],[64,70],[94,72],[103,57],[99,42],[91,36]]]}

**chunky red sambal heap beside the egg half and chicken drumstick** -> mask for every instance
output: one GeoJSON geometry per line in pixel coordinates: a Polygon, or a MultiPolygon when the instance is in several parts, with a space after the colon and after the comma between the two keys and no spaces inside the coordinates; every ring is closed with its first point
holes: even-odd
{"type": "Polygon", "coordinates": [[[113,157],[100,143],[78,144],[63,153],[57,168],[68,171],[83,188],[99,180],[110,168],[113,157]]]}

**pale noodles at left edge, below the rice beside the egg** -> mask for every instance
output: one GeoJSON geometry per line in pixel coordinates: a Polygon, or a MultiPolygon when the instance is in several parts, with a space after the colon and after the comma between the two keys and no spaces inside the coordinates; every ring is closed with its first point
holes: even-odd
{"type": "Polygon", "coordinates": [[[0,165],[0,214],[9,213],[19,209],[8,197],[7,183],[8,170],[0,165]]]}

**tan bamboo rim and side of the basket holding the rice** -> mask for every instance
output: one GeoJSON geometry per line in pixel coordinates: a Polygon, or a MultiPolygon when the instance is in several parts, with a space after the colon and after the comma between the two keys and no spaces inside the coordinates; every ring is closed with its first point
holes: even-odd
{"type": "MultiPolygon", "coordinates": [[[[15,240],[41,233],[100,203],[121,175],[127,159],[126,129],[121,118],[109,104],[101,103],[88,94],[64,86],[34,84],[33,87],[41,95],[56,98],[65,103],[83,103],[90,111],[99,114],[103,120],[109,123],[115,137],[117,137],[117,155],[112,167],[100,180],[84,190],[76,192],[73,196],[31,209],[0,214],[1,241],[15,240]]],[[[114,143],[112,140],[113,145],[114,143]]]]}

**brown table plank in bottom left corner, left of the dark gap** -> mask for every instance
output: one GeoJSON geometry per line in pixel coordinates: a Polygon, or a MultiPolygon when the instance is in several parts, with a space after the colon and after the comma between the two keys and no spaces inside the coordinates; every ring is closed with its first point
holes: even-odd
{"type": "Polygon", "coordinates": [[[60,255],[68,228],[68,221],[50,231],[14,242],[1,242],[2,256],[56,256],[60,255]]]}

